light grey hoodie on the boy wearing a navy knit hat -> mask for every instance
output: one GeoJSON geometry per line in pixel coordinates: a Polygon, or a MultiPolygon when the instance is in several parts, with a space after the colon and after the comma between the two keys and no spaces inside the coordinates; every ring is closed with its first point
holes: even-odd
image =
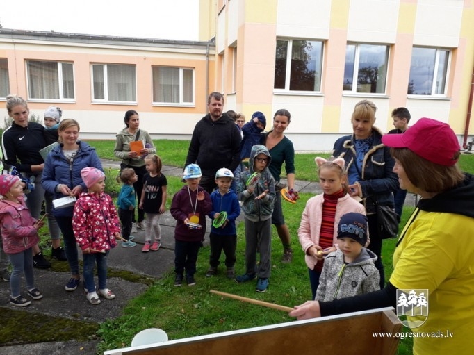
{"type": "Polygon", "coordinates": [[[377,256],[366,248],[362,248],[359,257],[348,264],[344,263],[341,250],[326,256],[316,301],[327,302],[379,290],[380,274],[374,265],[376,260],[377,256]]]}

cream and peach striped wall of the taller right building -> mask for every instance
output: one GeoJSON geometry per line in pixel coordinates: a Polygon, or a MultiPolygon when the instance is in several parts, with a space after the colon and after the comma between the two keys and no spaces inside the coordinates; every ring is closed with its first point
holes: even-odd
{"type": "MultiPolygon", "coordinates": [[[[377,105],[376,126],[382,131],[393,128],[393,108],[405,106],[413,117],[411,124],[420,117],[448,122],[462,143],[466,116],[472,110],[468,99],[474,67],[473,6],[472,0],[223,1],[216,56],[225,57],[225,74],[217,80],[232,97],[227,109],[242,112],[247,119],[256,110],[272,117],[277,109],[288,109],[292,118],[286,134],[301,151],[330,150],[336,138],[351,133],[350,116],[361,99],[377,105]],[[274,89],[277,39],[324,42],[320,92],[274,89]],[[389,46],[383,94],[343,91],[348,42],[389,46]],[[451,50],[446,95],[407,94],[414,46],[451,50]],[[235,92],[228,82],[230,47],[238,49],[235,92]]],[[[218,78],[222,68],[216,63],[218,78]]]]}

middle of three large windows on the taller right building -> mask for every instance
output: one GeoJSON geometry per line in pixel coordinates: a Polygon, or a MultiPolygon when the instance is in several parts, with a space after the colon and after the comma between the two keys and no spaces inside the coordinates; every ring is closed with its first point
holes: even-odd
{"type": "Polygon", "coordinates": [[[345,47],[343,91],[384,94],[388,58],[387,46],[348,44],[345,47]]]}

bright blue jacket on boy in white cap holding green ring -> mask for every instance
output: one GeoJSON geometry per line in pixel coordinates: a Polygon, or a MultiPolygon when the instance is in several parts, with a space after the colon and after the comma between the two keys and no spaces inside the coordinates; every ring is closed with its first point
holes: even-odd
{"type": "Polygon", "coordinates": [[[236,219],[240,215],[240,205],[238,198],[234,191],[229,190],[224,196],[220,195],[219,189],[211,193],[212,210],[209,213],[209,218],[214,220],[215,213],[227,212],[227,224],[224,228],[215,228],[211,226],[211,233],[220,236],[235,236],[236,235],[236,219]]]}

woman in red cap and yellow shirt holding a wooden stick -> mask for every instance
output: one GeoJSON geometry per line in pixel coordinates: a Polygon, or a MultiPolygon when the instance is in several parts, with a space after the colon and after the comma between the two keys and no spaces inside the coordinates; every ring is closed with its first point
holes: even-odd
{"type": "Polygon", "coordinates": [[[382,142],[392,147],[400,187],[421,196],[398,239],[389,282],[383,290],[358,297],[309,301],[289,315],[302,320],[396,308],[411,292],[427,308],[423,316],[416,313],[423,306],[417,305],[413,311],[418,315],[412,316],[407,307],[403,323],[425,335],[414,336],[413,354],[472,354],[474,177],[456,164],[459,141],[448,124],[422,118],[402,135],[384,135],[382,142]]]}

